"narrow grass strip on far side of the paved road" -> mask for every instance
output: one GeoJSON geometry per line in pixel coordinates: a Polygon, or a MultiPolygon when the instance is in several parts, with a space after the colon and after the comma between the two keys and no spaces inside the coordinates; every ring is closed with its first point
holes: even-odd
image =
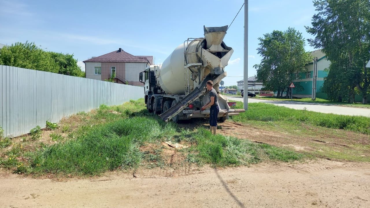
{"type": "Polygon", "coordinates": [[[322,98],[316,98],[315,101],[312,101],[311,98],[276,98],[276,97],[254,97],[256,99],[262,100],[276,100],[276,101],[295,101],[295,102],[304,102],[304,103],[320,103],[320,104],[331,104],[331,105],[344,105],[350,107],[363,107],[363,108],[370,108],[370,104],[362,104],[362,103],[348,103],[348,102],[334,102],[330,100],[325,100],[322,98]]]}

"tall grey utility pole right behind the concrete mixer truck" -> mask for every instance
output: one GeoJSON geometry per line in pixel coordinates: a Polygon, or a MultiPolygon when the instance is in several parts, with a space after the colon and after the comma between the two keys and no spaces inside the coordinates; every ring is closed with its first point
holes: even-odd
{"type": "Polygon", "coordinates": [[[248,110],[248,0],[244,0],[244,109],[248,110]]]}

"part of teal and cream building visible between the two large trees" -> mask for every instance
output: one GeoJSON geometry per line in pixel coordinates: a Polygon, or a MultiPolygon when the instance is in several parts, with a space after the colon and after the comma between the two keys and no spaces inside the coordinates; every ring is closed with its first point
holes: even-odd
{"type": "MultiPolygon", "coordinates": [[[[324,78],[327,76],[326,68],[330,66],[330,61],[326,59],[326,54],[322,52],[322,49],[312,51],[311,55],[313,58],[317,57],[317,80],[316,80],[316,97],[327,98],[326,93],[323,92],[324,78]]],[[[293,81],[296,85],[293,88],[294,97],[311,97],[312,89],[315,88],[313,83],[313,60],[311,63],[306,65],[307,73],[298,73],[297,79],[293,81]]]]}

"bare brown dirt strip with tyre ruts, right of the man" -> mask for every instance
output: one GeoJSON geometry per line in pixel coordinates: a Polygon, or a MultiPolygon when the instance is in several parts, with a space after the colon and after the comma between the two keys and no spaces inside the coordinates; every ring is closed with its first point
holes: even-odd
{"type": "Polygon", "coordinates": [[[308,152],[323,158],[369,162],[370,136],[353,131],[333,130],[302,124],[302,128],[289,131],[269,131],[261,127],[227,120],[220,124],[218,133],[308,152]]]}

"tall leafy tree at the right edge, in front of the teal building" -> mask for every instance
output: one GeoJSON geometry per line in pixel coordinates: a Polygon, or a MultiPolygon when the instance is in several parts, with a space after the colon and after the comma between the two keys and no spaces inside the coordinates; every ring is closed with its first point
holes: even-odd
{"type": "Polygon", "coordinates": [[[358,91],[366,104],[370,93],[370,73],[366,68],[370,59],[370,1],[313,2],[318,13],[312,17],[312,27],[306,30],[316,37],[308,41],[311,46],[323,48],[332,63],[324,89],[331,100],[354,101],[358,91]]]}

